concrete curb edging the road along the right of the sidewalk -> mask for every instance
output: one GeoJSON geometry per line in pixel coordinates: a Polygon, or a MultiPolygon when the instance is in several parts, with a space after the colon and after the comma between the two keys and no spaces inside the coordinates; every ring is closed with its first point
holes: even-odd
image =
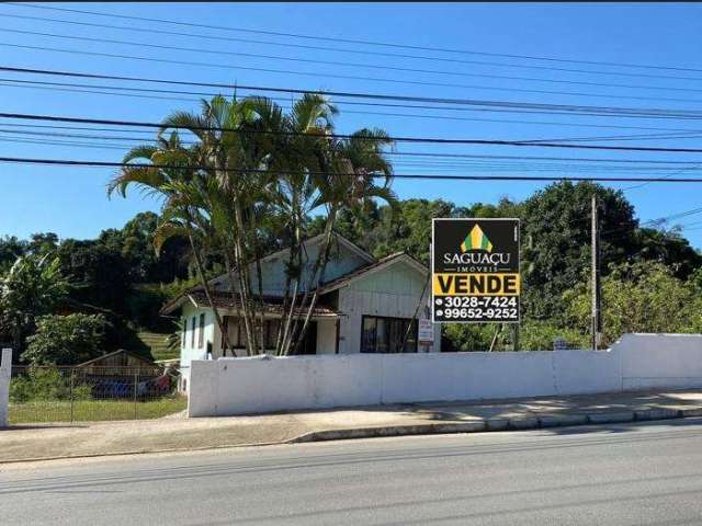
{"type": "Polygon", "coordinates": [[[524,431],[547,427],[565,427],[588,424],[616,424],[636,421],[655,421],[702,416],[702,408],[644,409],[638,411],[609,411],[600,413],[545,414],[517,419],[480,419],[468,422],[442,422],[435,424],[387,425],[349,430],[313,431],[287,441],[290,444],[325,441],[375,438],[380,436],[443,435],[454,433],[480,433],[486,431],[524,431]]]}

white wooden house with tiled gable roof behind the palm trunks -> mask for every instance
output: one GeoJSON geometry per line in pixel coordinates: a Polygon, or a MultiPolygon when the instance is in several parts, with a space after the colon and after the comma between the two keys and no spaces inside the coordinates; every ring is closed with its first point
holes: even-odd
{"type": "MultiPolygon", "coordinates": [[[[301,279],[302,293],[303,285],[312,281],[313,265],[321,245],[322,236],[304,243],[306,261],[301,279]]],[[[263,297],[260,300],[264,306],[263,332],[269,352],[275,347],[282,317],[288,253],[288,249],[284,249],[261,260],[263,297]]],[[[253,272],[252,265],[251,274],[253,272]]],[[[213,302],[223,317],[237,356],[242,356],[246,335],[237,316],[238,297],[233,297],[228,279],[223,275],[211,282],[213,302]]],[[[439,352],[439,325],[434,328],[433,343],[418,342],[418,320],[430,317],[428,279],[429,270],[404,252],[377,260],[342,236],[335,235],[312,324],[297,354],[439,352]],[[408,327],[410,330],[406,338],[408,327]],[[403,341],[405,346],[400,348],[403,341]]],[[[180,366],[182,389],[186,390],[192,359],[223,356],[222,333],[201,287],[174,298],[161,312],[180,316],[180,366]]],[[[295,316],[302,319],[304,310],[295,316]]]]}

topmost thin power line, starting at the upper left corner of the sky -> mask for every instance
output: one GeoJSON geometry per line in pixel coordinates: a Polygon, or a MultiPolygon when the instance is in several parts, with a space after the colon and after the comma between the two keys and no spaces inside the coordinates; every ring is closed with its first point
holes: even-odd
{"type": "Polygon", "coordinates": [[[197,24],[197,23],[193,23],[193,22],[179,22],[179,21],[173,21],[173,20],[155,19],[155,18],[147,18],[147,16],[124,15],[124,14],[105,13],[105,12],[99,12],[99,11],[87,11],[87,10],[78,10],[78,9],[69,9],[69,8],[56,8],[56,7],[26,4],[26,3],[19,3],[19,2],[7,2],[7,4],[8,5],[15,5],[15,7],[23,7],[23,8],[44,9],[44,10],[49,10],[49,11],[63,11],[63,12],[79,13],[79,14],[90,14],[90,15],[93,15],[93,16],[107,16],[107,18],[124,19],[124,20],[138,20],[138,21],[144,21],[144,22],[157,22],[157,23],[161,23],[161,24],[172,24],[172,25],[186,26],[186,27],[201,27],[201,28],[218,30],[218,31],[229,31],[229,32],[239,32],[239,33],[251,33],[251,34],[263,34],[263,35],[271,35],[271,36],[284,36],[284,37],[302,38],[302,39],[309,39],[309,41],[340,42],[340,43],[344,43],[344,44],[362,44],[362,45],[369,45],[369,46],[381,46],[381,47],[392,47],[392,48],[403,48],[403,49],[416,49],[416,50],[438,52],[438,53],[452,53],[452,54],[461,54],[461,55],[482,55],[482,56],[490,56],[490,57],[518,58],[518,59],[526,59],[526,60],[545,60],[545,61],[554,61],[554,62],[585,64],[585,65],[597,65],[597,66],[615,66],[615,67],[639,68],[639,69],[660,69],[660,70],[669,70],[669,71],[702,72],[702,69],[695,69],[695,68],[682,68],[682,67],[672,67],[672,66],[650,66],[650,65],[627,64],[627,62],[608,62],[608,61],[596,61],[596,60],[576,60],[576,59],[533,56],[533,55],[514,55],[514,54],[502,54],[502,53],[477,52],[477,50],[474,50],[474,49],[456,49],[456,48],[445,48],[445,47],[417,46],[417,45],[407,45],[407,44],[398,44],[398,43],[389,43],[389,42],[363,41],[363,39],[358,39],[358,38],[354,39],[354,38],[340,38],[340,37],[329,37],[329,36],[319,36],[319,35],[303,35],[303,34],[298,34],[298,33],[284,33],[284,32],[275,32],[275,31],[251,30],[251,28],[246,28],[246,27],[231,27],[231,26],[222,26],[222,25],[212,25],[212,24],[197,24]]]}

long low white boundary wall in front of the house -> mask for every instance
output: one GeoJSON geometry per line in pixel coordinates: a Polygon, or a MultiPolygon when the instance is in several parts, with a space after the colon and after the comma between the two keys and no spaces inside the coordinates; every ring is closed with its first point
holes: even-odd
{"type": "Polygon", "coordinates": [[[189,415],[702,387],[702,335],[625,334],[608,351],[192,361],[189,415]]]}

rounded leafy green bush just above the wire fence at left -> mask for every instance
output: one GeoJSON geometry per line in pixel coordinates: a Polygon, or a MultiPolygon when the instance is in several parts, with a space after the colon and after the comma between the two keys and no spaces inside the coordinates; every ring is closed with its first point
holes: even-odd
{"type": "Polygon", "coordinates": [[[49,315],[36,320],[22,359],[32,365],[73,365],[102,354],[109,323],[101,315],[49,315]]]}

